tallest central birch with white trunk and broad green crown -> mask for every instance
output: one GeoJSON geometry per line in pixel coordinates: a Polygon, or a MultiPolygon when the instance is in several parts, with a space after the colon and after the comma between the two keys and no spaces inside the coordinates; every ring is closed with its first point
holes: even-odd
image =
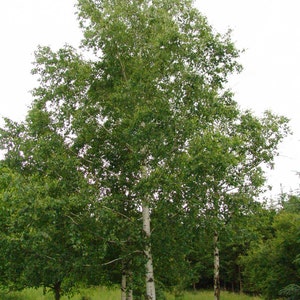
{"type": "MultiPolygon", "coordinates": [[[[238,51],[191,1],[80,0],[78,16],[94,58],[70,47],[40,48],[35,103],[78,153],[102,199],[119,199],[111,208],[129,218],[143,207],[149,220],[167,161],[207,126],[236,114],[222,88],[239,69],[238,51]]],[[[149,232],[147,298],[155,299],[149,232]]]]}

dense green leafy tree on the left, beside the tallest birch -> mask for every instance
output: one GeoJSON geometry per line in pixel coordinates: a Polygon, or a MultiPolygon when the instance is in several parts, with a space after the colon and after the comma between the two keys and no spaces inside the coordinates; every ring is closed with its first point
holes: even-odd
{"type": "Polygon", "coordinates": [[[33,108],[26,123],[6,126],[1,132],[7,150],[1,163],[3,283],[66,293],[86,273],[88,246],[96,240],[93,187],[45,113],[33,108]]]}

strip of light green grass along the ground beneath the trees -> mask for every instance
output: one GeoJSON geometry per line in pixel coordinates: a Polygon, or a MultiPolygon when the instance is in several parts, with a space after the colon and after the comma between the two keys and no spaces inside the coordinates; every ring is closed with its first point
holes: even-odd
{"type": "MultiPolygon", "coordinates": [[[[173,295],[167,294],[167,300],[174,300],[173,295]]],[[[61,297],[61,300],[120,300],[120,291],[118,289],[107,288],[90,288],[83,289],[79,294],[68,298],[61,297]]],[[[52,293],[43,295],[42,289],[26,289],[22,292],[5,293],[0,291],[1,300],[53,300],[52,293]]],[[[213,292],[200,291],[200,292],[186,292],[182,297],[176,298],[180,300],[210,300],[214,299],[213,292]]],[[[259,297],[250,297],[246,295],[238,295],[229,292],[221,293],[222,300],[261,300],[259,297]]]]}

